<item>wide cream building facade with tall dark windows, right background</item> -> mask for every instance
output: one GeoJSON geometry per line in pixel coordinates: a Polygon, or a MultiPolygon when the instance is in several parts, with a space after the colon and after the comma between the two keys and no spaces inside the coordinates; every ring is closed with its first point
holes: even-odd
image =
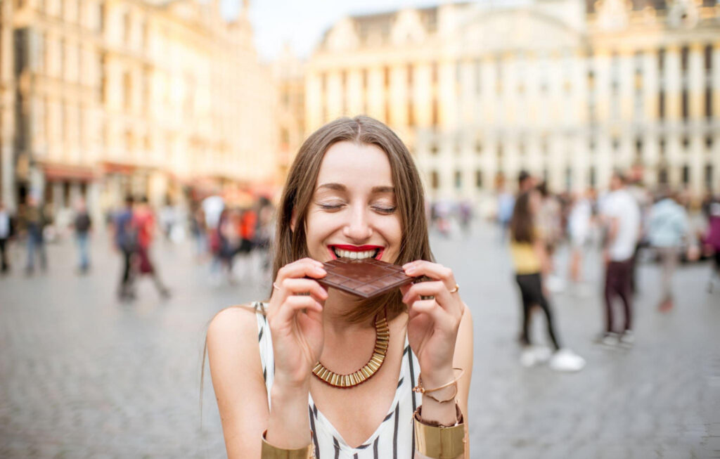
{"type": "MultiPolygon", "coordinates": [[[[525,169],[554,191],[613,169],[720,191],[720,5],[443,4],[347,17],[307,64],[307,130],[369,114],[410,146],[433,199],[525,169]]],[[[514,180],[513,180],[514,182],[514,180]]]]}

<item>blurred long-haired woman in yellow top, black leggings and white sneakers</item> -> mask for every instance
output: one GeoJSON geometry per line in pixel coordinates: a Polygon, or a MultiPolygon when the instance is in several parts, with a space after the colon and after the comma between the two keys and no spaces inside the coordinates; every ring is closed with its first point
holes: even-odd
{"type": "Polygon", "coordinates": [[[523,326],[520,342],[523,345],[521,363],[532,366],[550,358],[550,368],[557,371],[580,371],[585,360],[571,350],[562,349],[552,321],[550,304],[542,276],[549,272],[550,261],[545,250],[544,240],[536,229],[536,218],[541,206],[541,196],[536,190],[526,191],[518,196],[510,219],[510,254],[515,267],[515,278],[520,288],[523,304],[523,326]],[[529,330],[531,314],[539,306],[546,317],[547,334],[552,342],[552,357],[546,347],[534,347],[531,344],[529,330]]]}

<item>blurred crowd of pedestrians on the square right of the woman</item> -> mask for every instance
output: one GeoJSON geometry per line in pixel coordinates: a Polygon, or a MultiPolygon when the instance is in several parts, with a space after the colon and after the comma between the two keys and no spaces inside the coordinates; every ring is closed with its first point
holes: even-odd
{"type": "Polygon", "coordinates": [[[550,292],[567,287],[554,263],[559,245],[570,247],[567,278],[573,288],[583,284],[583,258],[588,249],[594,245],[602,252],[605,323],[596,342],[608,346],[634,344],[639,258],[660,263],[660,312],[675,307],[672,279],[680,261],[714,258],[708,291],[720,276],[720,196],[708,194],[702,201],[692,201],[688,194],[665,186],[651,190],[619,171],[613,173],[605,194],[598,195],[593,189],[552,194],[546,183],[521,172],[517,194],[510,194],[500,184],[496,209],[499,239],[503,243],[509,240],[521,296],[519,340],[521,363],[526,366],[549,361],[556,370],[579,371],[585,365],[579,355],[559,344],[554,326],[550,292]],[[533,345],[529,337],[531,317],[538,309],[545,315],[552,350],[533,345]]]}

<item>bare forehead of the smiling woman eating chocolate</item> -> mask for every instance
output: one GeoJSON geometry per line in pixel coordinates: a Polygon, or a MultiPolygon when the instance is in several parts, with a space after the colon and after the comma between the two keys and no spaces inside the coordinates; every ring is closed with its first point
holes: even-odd
{"type": "Polygon", "coordinates": [[[325,152],[318,183],[341,183],[348,188],[392,186],[387,154],[376,145],[337,142],[325,152]]]}

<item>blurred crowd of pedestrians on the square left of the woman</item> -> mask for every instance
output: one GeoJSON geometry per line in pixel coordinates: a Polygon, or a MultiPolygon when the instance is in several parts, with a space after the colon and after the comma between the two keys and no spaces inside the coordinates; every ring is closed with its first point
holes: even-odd
{"type": "MultiPolygon", "coordinates": [[[[85,201],[78,199],[71,209],[53,212],[35,196],[27,199],[17,213],[9,212],[0,202],[0,273],[9,273],[9,245],[24,246],[27,276],[39,265],[48,270],[46,245],[71,236],[76,244],[76,268],[79,275],[91,269],[91,232],[94,222],[85,201]]],[[[167,298],[170,289],[163,283],[160,269],[152,256],[157,237],[181,243],[190,235],[198,263],[207,263],[212,283],[264,272],[269,269],[269,245],[273,237],[274,207],[269,199],[245,199],[242,203],[220,194],[191,199],[189,205],[166,204],[154,209],[146,197],[127,196],[124,203],[109,209],[105,226],[112,247],[120,254],[121,274],[117,294],[120,299],[135,299],[135,283],[147,277],[158,293],[167,298]],[[236,260],[243,260],[245,271],[234,273],[236,260]]],[[[101,225],[102,227],[102,225],[101,225]]]]}

